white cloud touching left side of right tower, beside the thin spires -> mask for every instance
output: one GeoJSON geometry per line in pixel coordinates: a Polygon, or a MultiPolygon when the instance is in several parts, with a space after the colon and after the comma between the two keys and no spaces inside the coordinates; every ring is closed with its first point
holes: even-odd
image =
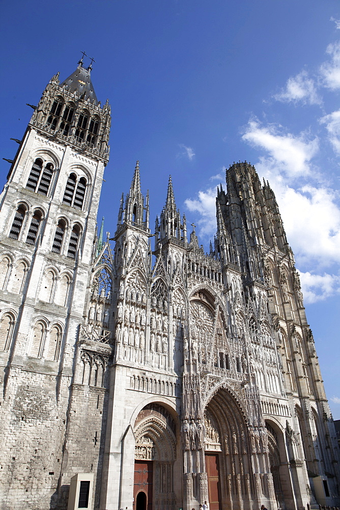
{"type": "Polygon", "coordinates": [[[216,232],[216,194],[216,188],[208,188],[199,191],[197,198],[187,198],[184,202],[189,211],[200,215],[197,223],[201,236],[213,236],[216,232]]]}

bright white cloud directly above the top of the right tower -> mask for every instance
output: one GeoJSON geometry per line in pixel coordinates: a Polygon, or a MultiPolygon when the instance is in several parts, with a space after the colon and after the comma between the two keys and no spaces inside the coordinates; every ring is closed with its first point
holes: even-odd
{"type": "Polygon", "coordinates": [[[280,134],[279,127],[273,124],[262,126],[257,119],[251,119],[242,139],[265,149],[272,164],[279,165],[280,170],[290,177],[307,175],[310,160],[319,150],[318,139],[308,140],[303,133],[299,136],[280,134]]]}

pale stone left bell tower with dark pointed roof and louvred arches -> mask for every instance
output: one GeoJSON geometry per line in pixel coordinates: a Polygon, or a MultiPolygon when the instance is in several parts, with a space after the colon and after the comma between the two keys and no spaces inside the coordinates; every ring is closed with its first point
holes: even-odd
{"type": "Polygon", "coordinates": [[[109,154],[110,107],[101,107],[91,69],[81,59],[62,83],[52,77],[1,194],[0,487],[9,507],[15,492],[49,508],[51,487],[67,474],[75,343],[109,154]]]}

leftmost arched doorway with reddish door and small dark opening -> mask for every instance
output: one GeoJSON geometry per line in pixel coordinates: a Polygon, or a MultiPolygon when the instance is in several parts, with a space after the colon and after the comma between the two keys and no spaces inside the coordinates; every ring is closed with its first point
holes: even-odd
{"type": "Polygon", "coordinates": [[[134,424],[134,510],[155,510],[160,505],[174,510],[176,429],[173,416],[161,404],[147,404],[139,412],[134,424]],[[144,503],[138,499],[140,491],[146,494],[144,503]],[[146,506],[138,508],[139,502],[146,506]]]}

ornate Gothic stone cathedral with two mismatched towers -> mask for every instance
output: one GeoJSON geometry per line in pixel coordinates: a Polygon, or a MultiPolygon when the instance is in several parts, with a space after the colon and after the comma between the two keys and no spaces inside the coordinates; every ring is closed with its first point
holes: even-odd
{"type": "Polygon", "coordinates": [[[334,425],[269,184],[246,162],[226,171],[207,254],[171,179],[151,231],[137,162],[103,239],[110,107],[90,73],[81,60],[50,80],[1,195],[1,510],[339,504],[334,425]]]}

